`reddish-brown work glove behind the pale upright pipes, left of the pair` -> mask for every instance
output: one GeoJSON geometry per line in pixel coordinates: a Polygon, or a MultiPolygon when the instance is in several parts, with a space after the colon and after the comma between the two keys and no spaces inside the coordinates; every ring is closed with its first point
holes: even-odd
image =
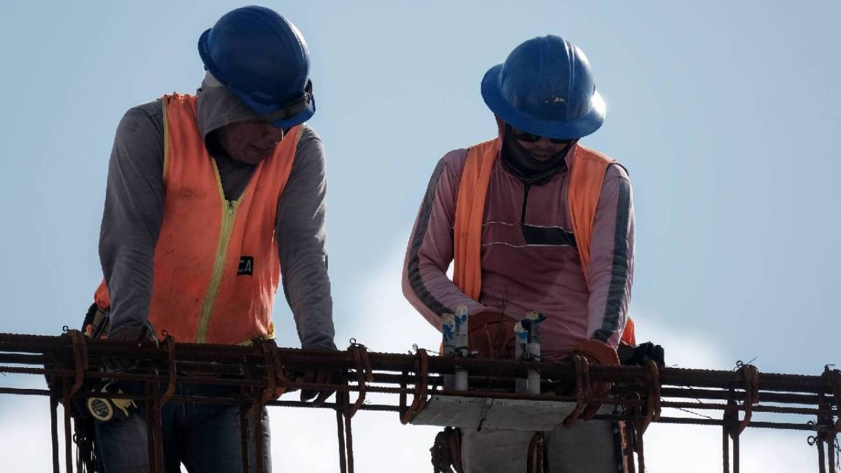
{"type": "Polygon", "coordinates": [[[516,321],[497,311],[481,311],[468,318],[468,343],[479,358],[514,359],[516,321]]]}

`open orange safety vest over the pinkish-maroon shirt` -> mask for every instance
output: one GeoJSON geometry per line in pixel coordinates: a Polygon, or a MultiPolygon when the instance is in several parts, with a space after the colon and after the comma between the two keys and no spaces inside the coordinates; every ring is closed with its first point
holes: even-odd
{"type": "MultiPolygon", "coordinates": [[[[500,156],[500,138],[484,141],[468,150],[456,200],[456,221],[453,229],[453,282],[458,289],[479,300],[482,289],[482,224],[488,196],[490,173],[500,156]]],[[[568,206],[575,242],[578,245],[584,277],[590,263],[590,238],[593,235],[595,210],[599,205],[601,184],[607,167],[616,162],[590,148],[577,145],[569,171],[568,206]]],[[[636,344],[633,321],[628,317],[621,341],[636,344]]]]}

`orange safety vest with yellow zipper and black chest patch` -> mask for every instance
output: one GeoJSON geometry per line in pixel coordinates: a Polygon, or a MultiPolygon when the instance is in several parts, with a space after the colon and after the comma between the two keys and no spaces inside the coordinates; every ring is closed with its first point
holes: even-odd
{"type": "MultiPolygon", "coordinates": [[[[280,281],[275,219],[300,126],[227,200],[196,125],[196,97],[164,96],[164,212],[155,247],[149,321],[179,342],[250,343],[273,337],[280,281]]],[[[105,282],[94,296],[110,306],[105,282]]]]}

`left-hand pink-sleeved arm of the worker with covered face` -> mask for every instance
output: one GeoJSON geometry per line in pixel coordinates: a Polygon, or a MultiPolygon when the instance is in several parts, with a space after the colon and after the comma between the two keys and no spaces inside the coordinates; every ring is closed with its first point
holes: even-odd
{"type": "Polygon", "coordinates": [[[458,184],[466,158],[467,150],[462,149],[450,151],[438,162],[409,237],[403,266],[403,294],[439,330],[442,313],[453,313],[458,306],[468,306],[471,314],[490,310],[470,299],[447,277],[458,184]]]}

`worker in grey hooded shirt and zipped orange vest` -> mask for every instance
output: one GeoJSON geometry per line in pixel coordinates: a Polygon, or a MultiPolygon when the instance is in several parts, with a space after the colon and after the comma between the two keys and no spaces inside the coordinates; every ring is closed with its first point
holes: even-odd
{"type": "MultiPolygon", "coordinates": [[[[325,156],[304,125],[315,113],[304,37],[271,9],[236,8],[201,35],[198,52],[207,72],[196,96],[174,93],[133,107],[117,128],[99,241],[104,281],[95,298],[109,311],[108,337],[166,332],[178,342],[260,343],[274,336],[283,268],[303,348],[336,349],[325,156]]],[[[110,362],[132,367],[119,353],[110,362]]],[[[301,375],[320,383],[335,377],[324,369],[301,375]]],[[[175,395],[235,396],[240,389],[184,383],[175,395]]],[[[302,400],[329,395],[301,393],[302,400]]],[[[95,412],[99,467],[148,471],[142,406],[108,409],[101,404],[95,412]]],[[[188,471],[241,471],[239,409],[167,403],[165,470],[183,463],[188,471]]],[[[270,471],[267,413],[257,415],[270,471]]],[[[253,468],[253,433],[248,444],[253,468]]]]}

